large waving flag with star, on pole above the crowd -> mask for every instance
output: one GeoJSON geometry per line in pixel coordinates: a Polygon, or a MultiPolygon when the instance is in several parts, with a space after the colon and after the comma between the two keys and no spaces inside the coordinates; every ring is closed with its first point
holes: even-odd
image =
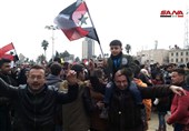
{"type": "Polygon", "coordinates": [[[70,41],[88,37],[99,42],[89,10],[82,0],[78,0],[63,9],[56,17],[54,23],[70,41]]]}

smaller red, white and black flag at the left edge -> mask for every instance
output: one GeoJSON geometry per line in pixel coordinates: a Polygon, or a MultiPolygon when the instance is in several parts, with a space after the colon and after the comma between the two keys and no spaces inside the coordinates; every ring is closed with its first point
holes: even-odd
{"type": "Polygon", "coordinates": [[[12,42],[0,48],[0,59],[1,58],[9,59],[9,60],[12,60],[12,61],[19,60],[12,42]]]}

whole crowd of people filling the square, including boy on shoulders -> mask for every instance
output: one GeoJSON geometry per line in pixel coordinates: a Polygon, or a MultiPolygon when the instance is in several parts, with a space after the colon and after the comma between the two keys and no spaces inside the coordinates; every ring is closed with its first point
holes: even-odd
{"type": "Polygon", "coordinates": [[[189,63],[146,66],[110,42],[108,59],[22,66],[0,59],[0,131],[189,131],[189,63]],[[171,114],[165,118],[167,112],[171,114]]]}

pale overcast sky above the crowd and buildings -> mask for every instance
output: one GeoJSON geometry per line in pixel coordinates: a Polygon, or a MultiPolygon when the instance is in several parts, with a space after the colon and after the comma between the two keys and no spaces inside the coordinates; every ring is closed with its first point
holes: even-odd
{"type": "MultiPolygon", "coordinates": [[[[47,57],[52,56],[51,31],[57,14],[76,0],[1,0],[0,47],[13,42],[17,53],[34,59],[43,53],[42,40],[49,41],[47,57]]],[[[169,46],[183,47],[185,21],[188,0],[86,0],[105,53],[110,53],[113,39],[131,44],[132,54],[145,49],[169,46]],[[162,10],[181,10],[183,18],[160,18],[162,10]]],[[[69,41],[60,31],[54,31],[54,50],[68,50],[81,58],[81,41],[69,41]],[[77,50],[77,51],[76,51],[77,50]]],[[[100,53],[98,43],[96,54],[100,53]]]]}

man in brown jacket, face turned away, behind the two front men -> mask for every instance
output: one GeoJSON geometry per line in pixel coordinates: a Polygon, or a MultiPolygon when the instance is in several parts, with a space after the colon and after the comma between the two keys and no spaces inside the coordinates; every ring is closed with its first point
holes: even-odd
{"type": "MultiPolygon", "coordinates": [[[[79,91],[77,99],[68,104],[62,105],[62,124],[63,131],[88,131],[90,129],[90,92],[86,81],[84,67],[73,64],[71,70],[77,73],[79,91]]],[[[60,91],[67,90],[67,81],[60,87],[60,91]]]]}

